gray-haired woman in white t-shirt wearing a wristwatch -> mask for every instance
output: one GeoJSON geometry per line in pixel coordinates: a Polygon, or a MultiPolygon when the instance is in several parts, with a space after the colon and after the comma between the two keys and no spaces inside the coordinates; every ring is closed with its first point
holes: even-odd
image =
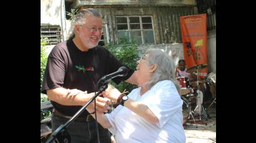
{"type": "MultiPolygon", "coordinates": [[[[114,134],[116,142],[185,142],[182,99],[174,64],[160,49],[149,49],[134,72],[139,88],[129,95],[104,92],[119,106],[97,121],[114,134]],[[114,96],[117,95],[117,96],[114,96]]],[[[89,111],[92,113],[93,111],[89,111]]],[[[95,118],[95,114],[92,114],[95,118]]]]}

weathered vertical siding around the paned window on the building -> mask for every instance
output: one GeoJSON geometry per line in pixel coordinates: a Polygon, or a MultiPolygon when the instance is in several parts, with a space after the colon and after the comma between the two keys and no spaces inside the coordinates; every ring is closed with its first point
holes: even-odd
{"type": "Polygon", "coordinates": [[[117,42],[116,16],[152,16],[155,44],[181,43],[180,16],[197,13],[195,6],[82,6],[101,11],[110,42],[117,42]]]}

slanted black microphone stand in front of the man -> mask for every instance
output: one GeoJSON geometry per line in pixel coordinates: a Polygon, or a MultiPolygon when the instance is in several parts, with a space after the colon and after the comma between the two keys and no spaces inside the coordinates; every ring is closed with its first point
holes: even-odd
{"type": "Polygon", "coordinates": [[[84,111],[84,109],[87,108],[87,106],[94,100],[96,99],[96,97],[102,93],[102,91],[107,89],[107,85],[108,82],[104,82],[104,84],[101,86],[101,88],[99,89],[99,91],[96,93],[96,95],[94,95],[84,106],[82,106],[81,109],[79,109],[79,111],[77,111],[76,114],[74,114],[74,116],[72,116],[71,119],[69,119],[69,121],[67,121],[65,124],[61,124],[61,126],[59,126],[56,131],[54,131],[51,135],[51,137],[49,137],[49,139],[47,139],[46,143],[50,143],[52,142],[55,138],[57,138],[58,142],[65,142],[65,143],[69,143],[71,142],[71,137],[69,136],[69,133],[67,132],[66,127],[69,126],[69,124],[71,124],[71,122],[73,122],[78,116],[79,114],[82,113],[82,111],[84,111]],[[61,134],[59,134],[61,133],[61,134]]]}

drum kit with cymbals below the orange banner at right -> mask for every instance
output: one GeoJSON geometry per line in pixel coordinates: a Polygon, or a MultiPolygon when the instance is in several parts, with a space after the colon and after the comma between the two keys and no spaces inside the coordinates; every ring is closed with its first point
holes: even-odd
{"type": "MultiPolygon", "coordinates": [[[[199,75],[198,70],[203,69],[205,67],[207,67],[207,64],[195,65],[194,67],[188,68],[187,73],[197,73],[197,75],[199,75]]],[[[189,116],[187,119],[190,119],[192,117],[193,121],[195,122],[195,119],[193,116],[193,115],[195,115],[195,111],[199,111],[199,120],[200,121],[202,121],[203,118],[205,120],[209,119],[209,114],[207,113],[207,109],[202,104],[203,103],[203,100],[202,100],[203,95],[202,95],[202,91],[200,91],[200,83],[207,83],[210,85],[215,85],[216,84],[216,71],[210,73],[209,75],[205,76],[204,79],[200,79],[200,80],[199,80],[199,76],[197,76],[197,79],[195,81],[192,81],[192,79],[186,78],[185,76],[179,76],[176,79],[180,83],[180,98],[184,101],[184,104],[189,111],[189,116]],[[196,83],[196,85],[192,86],[192,83],[196,83]],[[197,99],[198,104],[197,104],[197,106],[195,106],[194,111],[192,111],[191,99],[195,98],[195,97],[197,99]]],[[[212,103],[216,103],[215,99],[212,103]]],[[[210,108],[210,106],[209,106],[209,108],[210,108]]]]}

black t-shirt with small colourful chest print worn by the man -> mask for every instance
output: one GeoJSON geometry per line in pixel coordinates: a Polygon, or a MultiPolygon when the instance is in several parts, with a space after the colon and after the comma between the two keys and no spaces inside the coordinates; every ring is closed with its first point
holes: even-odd
{"type": "MultiPolygon", "coordinates": [[[[124,66],[104,47],[97,46],[87,52],[79,50],[69,39],[52,48],[47,60],[41,92],[64,87],[92,93],[96,90],[97,81],[104,75],[113,73],[124,66]]],[[[127,67],[128,68],[128,67],[127,67]]],[[[127,80],[134,70],[128,68],[127,76],[117,76],[112,80],[119,84],[127,80]]],[[[73,116],[82,106],[64,106],[51,101],[57,111],[66,116],[73,116]]],[[[86,110],[79,116],[89,114],[86,110]]]]}

